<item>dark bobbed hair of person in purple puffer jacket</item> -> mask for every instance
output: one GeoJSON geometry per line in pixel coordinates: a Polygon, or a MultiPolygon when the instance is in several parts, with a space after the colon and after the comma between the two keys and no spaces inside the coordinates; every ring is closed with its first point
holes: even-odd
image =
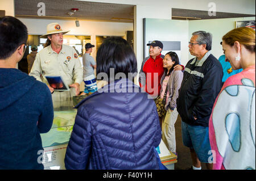
{"type": "Polygon", "coordinates": [[[108,74],[110,68],[114,68],[114,74],[137,73],[137,59],[129,43],[121,37],[109,37],[104,40],[97,51],[96,72],[108,74]]]}

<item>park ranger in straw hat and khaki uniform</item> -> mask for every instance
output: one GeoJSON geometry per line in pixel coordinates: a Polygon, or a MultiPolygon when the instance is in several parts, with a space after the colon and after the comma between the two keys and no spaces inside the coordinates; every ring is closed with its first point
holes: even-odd
{"type": "Polygon", "coordinates": [[[52,92],[53,102],[70,100],[74,95],[79,95],[79,86],[82,82],[82,66],[75,49],[63,44],[63,31],[58,23],[50,23],[47,33],[40,37],[47,38],[45,48],[36,55],[30,75],[38,81],[47,83],[46,76],[61,76],[64,83],[71,87],[70,91],[52,92]]]}

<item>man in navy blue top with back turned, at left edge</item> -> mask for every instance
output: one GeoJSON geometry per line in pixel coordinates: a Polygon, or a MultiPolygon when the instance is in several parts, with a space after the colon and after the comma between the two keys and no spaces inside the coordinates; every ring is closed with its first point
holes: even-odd
{"type": "Polygon", "coordinates": [[[0,18],[0,170],[44,169],[40,133],[52,127],[52,96],[16,64],[26,49],[27,27],[12,16],[0,18]]]}

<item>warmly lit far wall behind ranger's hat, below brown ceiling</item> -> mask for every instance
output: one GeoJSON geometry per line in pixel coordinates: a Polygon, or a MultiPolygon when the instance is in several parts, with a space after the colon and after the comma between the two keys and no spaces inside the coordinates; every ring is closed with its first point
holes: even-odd
{"type": "MultiPolygon", "coordinates": [[[[96,44],[96,36],[125,36],[127,31],[133,31],[133,23],[92,22],[79,20],[80,27],[76,27],[75,20],[27,19],[19,18],[28,28],[30,35],[43,35],[49,23],[59,23],[63,30],[70,30],[66,35],[90,35],[91,43],[96,44]]],[[[96,51],[92,52],[96,58],[96,51]]]]}

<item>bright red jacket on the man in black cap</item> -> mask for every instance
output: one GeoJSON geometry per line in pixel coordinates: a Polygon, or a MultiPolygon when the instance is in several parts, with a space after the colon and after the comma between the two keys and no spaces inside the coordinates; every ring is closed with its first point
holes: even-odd
{"type": "Polygon", "coordinates": [[[145,62],[142,70],[146,74],[145,91],[150,95],[160,95],[160,80],[164,73],[163,58],[161,57],[161,54],[156,56],[155,60],[150,56],[150,58],[145,62]],[[150,82],[148,82],[148,80],[150,80],[150,82]]]}

